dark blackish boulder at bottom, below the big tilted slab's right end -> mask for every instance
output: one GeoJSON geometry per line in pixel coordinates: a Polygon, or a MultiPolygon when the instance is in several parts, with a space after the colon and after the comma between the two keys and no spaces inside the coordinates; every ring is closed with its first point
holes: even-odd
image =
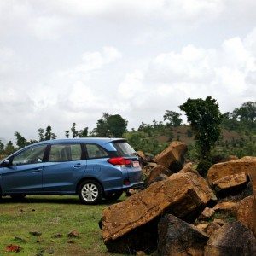
{"type": "Polygon", "coordinates": [[[163,256],[203,255],[208,239],[206,233],[171,214],[158,224],[158,251],[163,256]]]}

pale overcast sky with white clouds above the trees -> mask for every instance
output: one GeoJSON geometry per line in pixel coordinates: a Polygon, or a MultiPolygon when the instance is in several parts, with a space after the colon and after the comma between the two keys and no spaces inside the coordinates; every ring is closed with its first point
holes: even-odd
{"type": "Polygon", "coordinates": [[[255,0],[0,0],[0,137],[129,129],[190,98],[256,100],[255,0]]]}

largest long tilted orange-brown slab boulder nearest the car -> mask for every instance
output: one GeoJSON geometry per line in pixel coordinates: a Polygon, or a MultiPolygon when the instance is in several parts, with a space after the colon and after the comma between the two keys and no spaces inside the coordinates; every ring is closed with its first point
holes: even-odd
{"type": "MultiPolygon", "coordinates": [[[[129,250],[145,250],[148,233],[157,232],[150,230],[143,236],[143,226],[160,218],[164,212],[170,212],[178,218],[195,220],[202,209],[211,200],[215,199],[212,189],[207,182],[195,173],[175,173],[166,180],[152,183],[136,195],[131,195],[126,201],[114,204],[102,211],[102,237],[108,249],[112,252],[129,253],[129,250]],[[192,218],[192,219],[191,219],[192,218]],[[126,239],[131,233],[136,234],[140,229],[140,236],[136,239],[126,239]],[[126,238],[125,238],[126,237],[126,238]],[[132,247],[129,241],[137,241],[138,247],[132,247]],[[126,246],[120,252],[120,245],[126,246]]],[[[154,239],[154,237],[153,237],[154,239]]]]}

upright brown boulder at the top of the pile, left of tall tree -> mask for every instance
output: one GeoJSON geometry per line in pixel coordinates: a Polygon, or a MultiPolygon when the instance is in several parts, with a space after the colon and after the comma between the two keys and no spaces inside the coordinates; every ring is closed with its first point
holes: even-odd
{"type": "Polygon", "coordinates": [[[178,172],[183,168],[184,154],[186,154],[187,150],[188,147],[184,143],[172,142],[169,147],[154,157],[154,162],[165,166],[172,172],[178,172]]]}

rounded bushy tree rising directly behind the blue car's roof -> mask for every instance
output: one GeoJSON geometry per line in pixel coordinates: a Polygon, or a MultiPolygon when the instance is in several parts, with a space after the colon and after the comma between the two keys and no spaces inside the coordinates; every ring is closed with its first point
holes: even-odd
{"type": "Polygon", "coordinates": [[[128,121],[119,114],[103,113],[92,133],[98,137],[122,137],[126,131],[127,124],[128,121]]]}

